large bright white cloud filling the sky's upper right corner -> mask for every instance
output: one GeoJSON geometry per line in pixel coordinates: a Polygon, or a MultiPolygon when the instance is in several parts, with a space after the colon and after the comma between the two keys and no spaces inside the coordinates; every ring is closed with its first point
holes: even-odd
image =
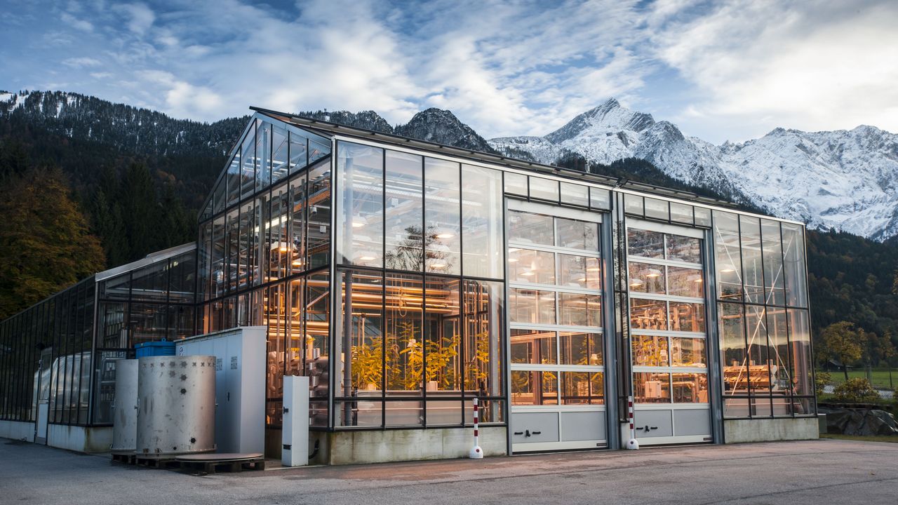
{"type": "Polygon", "coordinates": [[[673,23],[656,47],[665,63],[704,92],[682,115],[692,128],[733,125],[730,134],[741,135],[734,139],[776,126],[873,123],[894,131],[896,21],[895,3],[746,0],[673,23]]]}

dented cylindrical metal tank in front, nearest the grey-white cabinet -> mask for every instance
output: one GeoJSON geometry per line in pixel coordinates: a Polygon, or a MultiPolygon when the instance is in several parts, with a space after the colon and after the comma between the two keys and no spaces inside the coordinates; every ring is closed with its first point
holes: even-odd
{"type": "Polygon", "coordinates": [[[137,456],[216,449],[215,356],[138,359],[137,456]]]}

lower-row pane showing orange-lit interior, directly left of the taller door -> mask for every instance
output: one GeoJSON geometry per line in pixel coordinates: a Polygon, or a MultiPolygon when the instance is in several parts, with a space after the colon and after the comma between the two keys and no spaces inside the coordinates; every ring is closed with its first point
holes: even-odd
{"type": "Polygon", "coordinates": [[[499,342],[505,310],[504,285],[483,280],[464,281],[464,389],[468,394],[498,396],[502,390],[499,342]]]}

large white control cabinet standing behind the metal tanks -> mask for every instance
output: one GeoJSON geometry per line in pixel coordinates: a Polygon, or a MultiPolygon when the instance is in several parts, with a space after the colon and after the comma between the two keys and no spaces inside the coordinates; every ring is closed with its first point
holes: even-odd
{"type": "Polygon", "coordinates": [[[178,341],[178,356],[216,357],[216,452],[265,453],[265,326],[178,341]]]}

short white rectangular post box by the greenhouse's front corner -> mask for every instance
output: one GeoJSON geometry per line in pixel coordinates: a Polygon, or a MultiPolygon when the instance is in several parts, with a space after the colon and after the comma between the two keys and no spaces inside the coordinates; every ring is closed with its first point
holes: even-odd
{"type": "Polygon", "coordinates": [[[284,376],[281,464],[309,464],[309,377],[284,376]]]}

